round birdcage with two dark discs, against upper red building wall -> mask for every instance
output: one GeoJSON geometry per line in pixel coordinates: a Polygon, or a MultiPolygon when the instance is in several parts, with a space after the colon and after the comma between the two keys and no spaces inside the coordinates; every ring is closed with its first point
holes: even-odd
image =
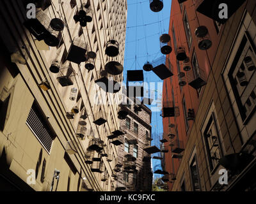
{"type": "Polygon", "coordinates": [[[212,41],[210,40],[207,27],[204,25],[197,27],[195,30],[195,36],[199,38],[198,48],[200,48],[200,50],[208,50],[211,48],[212,41]]]}

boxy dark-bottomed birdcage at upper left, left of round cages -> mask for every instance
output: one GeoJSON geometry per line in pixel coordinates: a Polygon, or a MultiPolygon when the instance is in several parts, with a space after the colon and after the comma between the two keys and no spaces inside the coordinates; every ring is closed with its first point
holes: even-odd
{"type": "Polygon", "coordinates": [[[29,30],[36,40],[44,40],[46,36],[49,36],[47,28],[50,25],[50,18],[42,10],[36,11],[36,18],[29,18],[24,22],[24,26],[29,30]]]}

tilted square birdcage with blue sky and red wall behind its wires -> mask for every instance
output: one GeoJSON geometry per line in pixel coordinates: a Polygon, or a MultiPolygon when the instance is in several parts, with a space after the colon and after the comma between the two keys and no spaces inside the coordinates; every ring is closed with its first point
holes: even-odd
{"type": "Polygon", "coordinates": [[[152,65],[154,67],[152,71],[154,71],[161,80],[173,76],[173,67],[169,58],[165,56],[159,57],[152,62],[152,65]]]}

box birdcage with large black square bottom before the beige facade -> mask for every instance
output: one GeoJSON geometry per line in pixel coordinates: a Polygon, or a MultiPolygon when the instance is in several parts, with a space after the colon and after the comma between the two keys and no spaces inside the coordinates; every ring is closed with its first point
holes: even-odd
{"type": "Polygon", "coordinates": [[[67,60],[76,64],[84,62],[86,60],[87,47],[87,43],[82,38],[75,37],[70,45],[67,60]]]}

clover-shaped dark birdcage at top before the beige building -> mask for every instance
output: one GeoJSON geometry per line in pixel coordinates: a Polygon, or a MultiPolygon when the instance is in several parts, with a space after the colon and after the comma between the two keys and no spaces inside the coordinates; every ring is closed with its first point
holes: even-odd
{"type": "Polygon", "coordinates": [[[74,20],[79,22],[81,27],[85,27],[88,22],[92,22],[93,10],[89,4],[83,4],[74,15],[74,20]]]}

